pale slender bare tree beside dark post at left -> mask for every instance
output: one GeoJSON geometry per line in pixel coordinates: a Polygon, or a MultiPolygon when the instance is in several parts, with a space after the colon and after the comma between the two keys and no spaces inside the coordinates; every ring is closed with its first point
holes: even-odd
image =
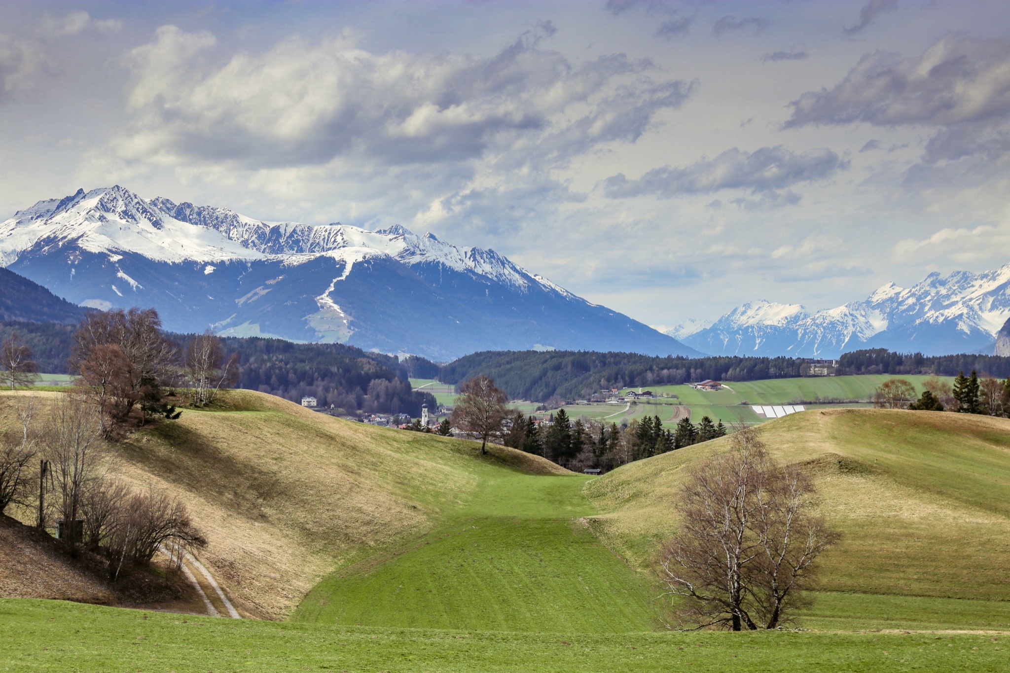
{"type": "MultiPolygon", "coordinates": [[[[54,406],[44,432],[45,457],[57,490],[57,511],[73,527],[73,522],[80,521],[83,515],[88,488],[104,477],[109,463],[98,412],[80,396],[65,395],[54,406]]],[[[68,540],[71,546],[78,542],[73,536],[68,540]]]]}

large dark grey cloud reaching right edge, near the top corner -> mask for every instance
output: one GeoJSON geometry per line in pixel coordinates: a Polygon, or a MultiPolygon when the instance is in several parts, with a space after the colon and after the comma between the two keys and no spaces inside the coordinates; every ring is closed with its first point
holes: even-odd
{"type": "Polygon", "coordinates": [[[1005,118],[1010,114],[1010,42],[947,36],[915,59],[869,53],[831,90],[807,92],[790,106],[786,128],[1005,118]]]}

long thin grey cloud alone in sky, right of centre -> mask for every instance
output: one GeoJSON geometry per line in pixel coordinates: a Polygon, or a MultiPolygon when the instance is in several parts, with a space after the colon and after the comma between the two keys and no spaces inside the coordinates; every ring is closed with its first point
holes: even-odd
{"type": "MultiPolygon", "coordinates": [[[[703,159],[683,169],[669,165],[652,169],[638,180],[628,180],[623,174],[617,174],[604,181],[603,192],[612,199],[646,194],[669,199],[726,189],[763,193],[823,180],[847,165],[847,161],[826,148],[796,153],[782,145],[762,147],[753,152],[733,147],[714,159],[703,159]]],[[[777,202],[786,199],[787,203],[795,203],[797,198],[795,195],[774,197],[777,202]]],[[[741,201],[738,205],[745,204],[741,201]]]]}

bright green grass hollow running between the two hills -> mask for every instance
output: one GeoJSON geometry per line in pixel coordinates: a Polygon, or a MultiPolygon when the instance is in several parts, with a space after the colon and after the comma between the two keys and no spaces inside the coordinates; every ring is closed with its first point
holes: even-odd
{"type": "Polygon", "coordinates": [[[477,491],[432,532],[318,584],[299,622],[622,633],[658,626],[648,587],[582,517],[588,477],[479,464],[477,491]]]}

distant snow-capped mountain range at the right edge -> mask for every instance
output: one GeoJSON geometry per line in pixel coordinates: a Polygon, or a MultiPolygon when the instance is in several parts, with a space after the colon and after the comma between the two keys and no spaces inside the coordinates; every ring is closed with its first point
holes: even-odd
{"type": "Polygon", "coordinates": [[[1008,318],[1010,264],[983,273],[934,272],[908,289],[890,283],[865,301],[815,313],[796,304],[744,304],[680,338],[720,355],[837,357],[860,348],[992,352],[1008,318]]]}

